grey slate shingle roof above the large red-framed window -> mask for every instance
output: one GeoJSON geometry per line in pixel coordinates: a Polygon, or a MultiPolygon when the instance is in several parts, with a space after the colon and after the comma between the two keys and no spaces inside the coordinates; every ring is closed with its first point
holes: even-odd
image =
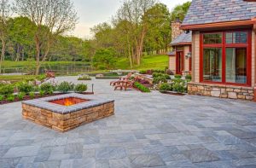
{"type": "Polygon", "coordinates": [[[244,0],[193,0],[183,26],[252,20],[256,17],[256,2],[244,0]]]}

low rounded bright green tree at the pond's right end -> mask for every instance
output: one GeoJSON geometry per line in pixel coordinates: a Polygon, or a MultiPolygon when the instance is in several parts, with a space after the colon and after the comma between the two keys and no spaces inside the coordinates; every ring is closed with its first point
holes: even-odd
{"type": "Polygon", "coordinates": [[[97,49],[92,61],[98,69],[113,68],[117,61],[116,52],[112,48],[97,49]]]}

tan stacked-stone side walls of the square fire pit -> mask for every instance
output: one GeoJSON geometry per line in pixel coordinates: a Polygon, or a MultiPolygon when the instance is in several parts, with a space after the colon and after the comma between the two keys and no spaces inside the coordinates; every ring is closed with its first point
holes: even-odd
{"type": "Polygon", "coordinates": [[[114,113],[113,102],[67,114],[54,113],[26,104],[22,104],[22,108],[24,119],[29,119],[38,125],[44,125],[61,132],[72,130],[79,127],[79,125],[90,123],[97,119],[106,118],[114,113]]]}

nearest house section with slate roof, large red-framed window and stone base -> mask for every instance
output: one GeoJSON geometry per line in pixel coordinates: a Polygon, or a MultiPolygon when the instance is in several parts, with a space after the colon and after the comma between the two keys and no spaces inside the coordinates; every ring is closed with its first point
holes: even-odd
{"type": "Polygon", "coordinates": [[[189,94],[256,101],[256,2],[193,0],[180,27],[192,32],[189,94]]]}

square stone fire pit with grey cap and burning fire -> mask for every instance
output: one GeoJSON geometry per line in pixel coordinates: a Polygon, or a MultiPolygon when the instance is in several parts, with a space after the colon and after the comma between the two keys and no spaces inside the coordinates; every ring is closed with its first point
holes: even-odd
{"type": "Polygon", "coordinates": [[[65,132],[114,114],[113,100],[79,94],[52,96],[22,102],[22,115],[39,125],[65,132]]]}

